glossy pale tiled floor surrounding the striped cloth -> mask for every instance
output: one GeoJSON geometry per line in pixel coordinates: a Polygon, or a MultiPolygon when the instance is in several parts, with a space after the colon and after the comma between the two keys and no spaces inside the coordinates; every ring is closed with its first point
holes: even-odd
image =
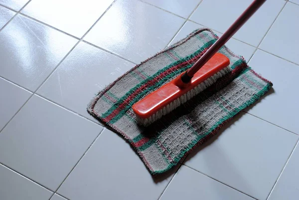
{"type": "Polygon", "coordinates": [[[0,200],[298,200],[299,0],[268,0],[228,41],[273,89],[153,178],[86,111],[135,64],[252,0],[0,0],[0,200]]]}

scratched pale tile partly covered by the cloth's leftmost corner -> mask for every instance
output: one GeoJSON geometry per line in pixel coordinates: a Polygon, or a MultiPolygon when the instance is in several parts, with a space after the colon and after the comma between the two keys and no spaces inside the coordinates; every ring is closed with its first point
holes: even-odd
{"type": "Polygon", "coordinates": [[[97,121],[86,111],[87,103],[132,67],[130,62],[80,42],[37,93],[97,121]]]}

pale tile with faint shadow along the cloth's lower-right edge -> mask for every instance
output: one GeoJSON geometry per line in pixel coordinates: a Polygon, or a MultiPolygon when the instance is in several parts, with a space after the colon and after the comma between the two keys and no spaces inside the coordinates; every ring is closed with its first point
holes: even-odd
{"type": "Polygon", "coordinates": [[[249,114],[237,116],[186,165],[251,197],[266,200],[298,136],[249,114]]]}

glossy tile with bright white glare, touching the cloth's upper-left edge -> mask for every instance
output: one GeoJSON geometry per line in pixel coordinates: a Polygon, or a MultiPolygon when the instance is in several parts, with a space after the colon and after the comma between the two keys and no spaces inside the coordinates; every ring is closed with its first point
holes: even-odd
{"type": "Polygon", "coordinates": [[[139,63],[163,49],[183,22],[147,3],[118,0],[84,39],[139,63]]]}

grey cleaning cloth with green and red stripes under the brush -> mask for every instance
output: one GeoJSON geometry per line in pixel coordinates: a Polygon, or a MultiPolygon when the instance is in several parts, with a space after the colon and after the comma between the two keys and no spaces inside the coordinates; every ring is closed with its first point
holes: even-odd
{"type": "Polygon", "coordinates": [[[272,86],[223,46],[219,52],[230,59],[226,75],[149,127],[138,125],[132,105],[190,68],[217,38],[208,28],[193,31],[125,73],[88,105],[91,115],[124,136],[151,174],[177,165],[272,86]]]}

